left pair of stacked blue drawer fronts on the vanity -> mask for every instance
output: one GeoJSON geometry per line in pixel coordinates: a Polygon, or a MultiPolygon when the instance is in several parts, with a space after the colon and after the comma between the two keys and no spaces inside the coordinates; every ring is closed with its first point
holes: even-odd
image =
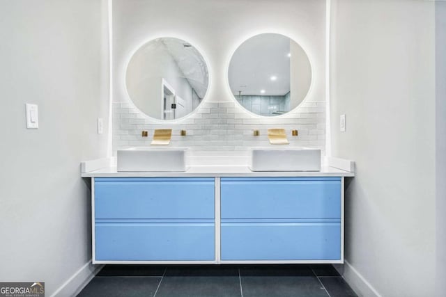
{"type": "Polygon", "coordinates": [[[94,262],[215,261],[214,178],[94,180],[94,262]]]}

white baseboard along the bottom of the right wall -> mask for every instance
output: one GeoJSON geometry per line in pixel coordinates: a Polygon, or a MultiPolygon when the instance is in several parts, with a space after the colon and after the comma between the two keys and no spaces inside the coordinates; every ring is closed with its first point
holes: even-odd
{"type": "Polygon", "coordinates": [[[347,260],[344,265],[334,265],[347,284],[360,297],[382,297],[378,291],[347,260]]]}

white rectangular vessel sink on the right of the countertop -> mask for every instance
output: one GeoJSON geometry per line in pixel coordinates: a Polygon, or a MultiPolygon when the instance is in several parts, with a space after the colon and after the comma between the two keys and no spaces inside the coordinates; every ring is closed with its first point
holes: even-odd
{"type": "Polygon", "coordinates": [[[321,171],[321,150],[308,147],[252,148],[252,171],[321,171]]]}

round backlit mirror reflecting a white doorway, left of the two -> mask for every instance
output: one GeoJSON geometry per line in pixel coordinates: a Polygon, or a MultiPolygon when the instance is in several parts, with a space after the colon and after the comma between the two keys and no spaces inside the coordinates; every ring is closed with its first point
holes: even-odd
{"type": "Polygon", "coordinates": [[[208,90],[208,67],[189,42],[157,38],[130,58],[128,95],[139,110],[158,120],[174,120],[199,106],[208,90]]]}

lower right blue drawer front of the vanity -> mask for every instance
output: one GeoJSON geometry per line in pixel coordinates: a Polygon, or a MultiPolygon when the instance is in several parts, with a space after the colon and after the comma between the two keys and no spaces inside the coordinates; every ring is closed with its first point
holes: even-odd
{"type": "Polygon", "coordinates": [[[222,223],[222,260],[339,260],[341,223],[222,223]]]}

